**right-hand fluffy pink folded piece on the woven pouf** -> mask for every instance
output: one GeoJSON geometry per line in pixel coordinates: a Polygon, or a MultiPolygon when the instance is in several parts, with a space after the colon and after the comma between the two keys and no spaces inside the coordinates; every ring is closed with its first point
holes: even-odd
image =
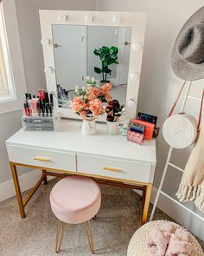
{"type": "Polygon", "coordinates": [[[187,256],[191,254],[191,244],[188,242],[189,233],[184,229],[177,229],[170,234],[166,256],[187,256]]]}

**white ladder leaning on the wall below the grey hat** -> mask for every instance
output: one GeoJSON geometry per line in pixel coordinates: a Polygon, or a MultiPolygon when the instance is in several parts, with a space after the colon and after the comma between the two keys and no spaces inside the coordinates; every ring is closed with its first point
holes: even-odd
{"type": "MultiPolygon", "coordinates": [[[[187,82],[187,81],[186,81],[187,82]]],[[[185,82],[185,83],[186,83],[185,82]]],[[[201,102],[201,99],[200,98],[196,98],[196,97],[193,97],[191,95],[189,95],[189,91],[190,91],[190,88],[191,88],[191,84],[192,84],[192,81],[188,81],[188,87],[187,87],[187,90],[186,90],[186,93],[184,95],[184,99],[183,99],[183,102],[182,102],[182,108],[181,108],[181,113],[184,112],[184,108],[186,106],[186,102],[188,100],[188,98],[190,99],[193,99],[195,101],[200,101],[201,102]]],[[[175,204],[179,205],[180,207],[182,207],[183,209],[185,209],[186,211],[188,211],[189,213],[192,213],[194,216],[196,216],[197,218],[199,218],[200,220],[204,220],[204,218],[202,218],[199,214],[197,213],[194,213],[193,210],[189,209],[188,207],[184,206],[180,201],[178,200],[175,200],[174,198],[172,198],[171,196],[169,196],[169,194],[166,194],[162,191],[163,189],[163,182],[164,182],[164,179],[165,179],[165,176],[167,174],[167,171],[168,171],[168,167],[174,167],[175,169],[179,170],[180,172],[184,172],[184,170],[181,168],[181,167],[178,167],[176,166],[175,164],[173,164],[171,162],[171,155],[173,153],[173,149],[172,147],[169,148],[169,154],[168,154],[168,157],[167,157],[167,160],[166,160],[166,163],[165,163],[165,166],[164,166],[164,169],[163,169],[163,176],[162,176],[162,179],[160,181],[160,184],[159,184],[159,187],[158,187],[158,190],[157,190],[157,194],[156,194],[156,199],[155,199],[155,202],[154,202],[154,206],[153,206],[153,209],[152,209],[152,212],[151,212],[151,215],[150,215],[150,221],[153,220],[154,218],[154,214],[155,214],[155,211],[156,211],[156,206],[157,206],[157,203],[158,203],[158,200],[159,200],[159,196],[160,194],[163,194],[165,197],[167,197],[169,200],[172,200],[175,202],[175,204]]]]}

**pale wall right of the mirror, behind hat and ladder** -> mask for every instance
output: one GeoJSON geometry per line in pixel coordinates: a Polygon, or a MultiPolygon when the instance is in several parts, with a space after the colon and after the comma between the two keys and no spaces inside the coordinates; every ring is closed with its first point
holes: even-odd
{"type": "MultiPolygon", "coordinates": [[[[203,6],[203,0],[96,0],[96,10],[116,11],[145,11],[147,12],[147,27],[143,49],[143,66],[141,84],[138,97],[138,110],[158,115],[159,126],[168,115],[175,96],[182,85],[182,80],[177,78],[170,66],[170,56],[175,37],[182,24],[195,10],[203,6]]],[[[191,95],[201,98],[203,81],[194,82],[191,95]]],[[[187,112],[198,115],[198,102],[188,100],[187,112]]],[[[204,119],[203,119],[204,120],[204,119]]],[[[163,173],[164,163],[169,147],[160,134],[157,144],[157,167],[154,186],[158,187],[163,173]]],[[[173,162],[184,167],[188,159],[188,150],[175,151],[173,162]]],[[[167,179],[164,182],[164,191],[175,196],[176,189],[181,181],[182,174],[169,168],[167,179]]],[[[199,210],[192,204],[188,207],[200,215],[199,210]]],[[[202,233],[204,238],[204,233],[202,233]]]]}

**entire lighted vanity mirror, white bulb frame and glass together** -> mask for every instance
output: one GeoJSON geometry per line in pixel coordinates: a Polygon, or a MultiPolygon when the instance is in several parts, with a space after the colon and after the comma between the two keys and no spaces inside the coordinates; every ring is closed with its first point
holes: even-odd
{"type": "Polygon", "coordinates": [[[56,93],[61,115],[79,118],[71,109],[75,86],[93,77],[98,88],[110,82],[112,99],[125,106],[124,118],[134,118],[145,13],[40,10],[40,19],[47,87],[56,93]]]}

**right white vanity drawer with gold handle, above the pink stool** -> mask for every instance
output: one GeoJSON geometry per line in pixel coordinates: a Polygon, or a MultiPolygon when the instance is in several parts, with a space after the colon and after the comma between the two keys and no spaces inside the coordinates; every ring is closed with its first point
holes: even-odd
{"type": "Polygon", "coordinates": [[[77,172],[127,181],[149,182],[150,164],[77,154],[77,172]]]}

